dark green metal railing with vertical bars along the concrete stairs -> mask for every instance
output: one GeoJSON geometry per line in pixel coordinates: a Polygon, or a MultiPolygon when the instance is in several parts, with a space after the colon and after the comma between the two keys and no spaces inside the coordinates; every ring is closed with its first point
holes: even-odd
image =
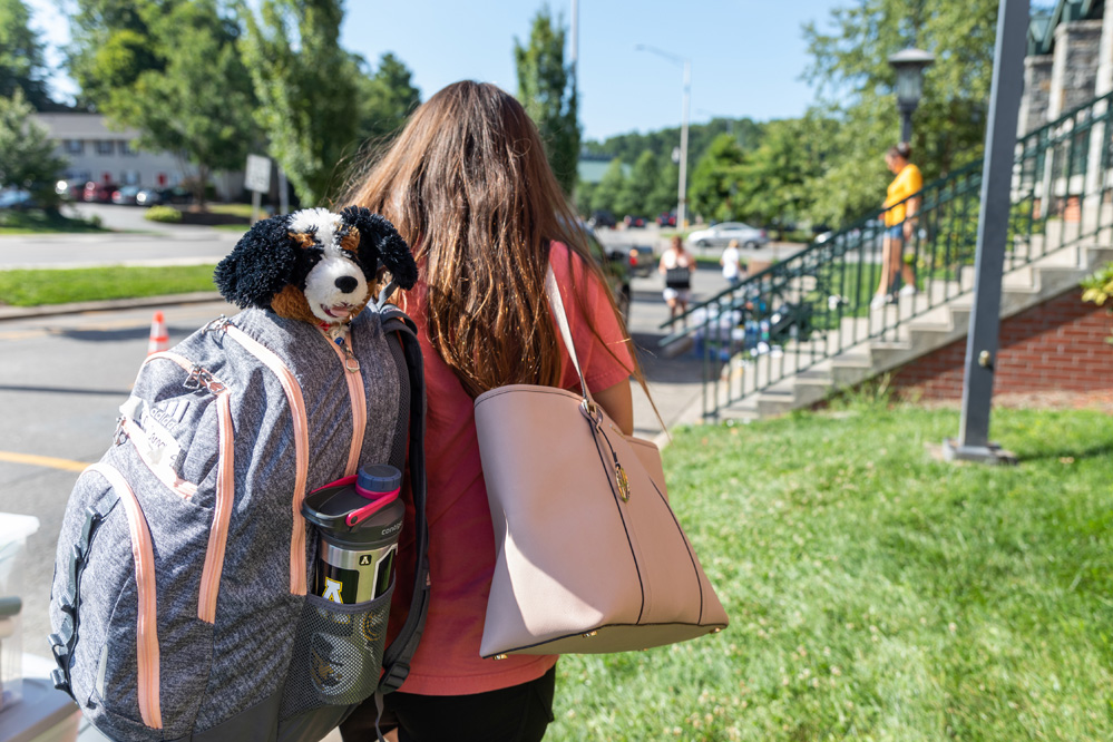
{"type": "MultiPolygon", "coordinates": [[[[1096,98],[1018,139],[1006,273],[1086,241],[1113,242],[1111,100],[1096,98]]],[[[907,340],[910,320],[969,294],[982,169],[970,163],[914,196],[919,209],[902,260],[915,283],[888,286],[888,300],[877,299],[886,289],[879,209],[789,257],[752,261],[738,285],[662,324],[671,330],[662,345],[691,338],[703,359],[704,417],[759,393],[798,394],[790,379],[800,374],[836,385],[860,378],[839,368],[869,365],[880,343],[907,340]]]]}

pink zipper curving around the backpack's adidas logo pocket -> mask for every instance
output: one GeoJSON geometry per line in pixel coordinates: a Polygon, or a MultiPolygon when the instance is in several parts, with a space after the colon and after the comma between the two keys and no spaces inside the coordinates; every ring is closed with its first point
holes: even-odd
{"type": "MultiPolygon", "coordinates": [[[[147,357],[144,364],[149,361],[163,358],[177,363],[182,369],[197,378],[198,382],[205,385],[211,392],[216,394],[217,406],[217,430],[219,438],[219,449],[217,466],[219,470],[216,475],[216,502],[213,506],[213,526],[208,531],[208,546],[205,549],[205,565],[201,570],[201,590],[197,595],[197,617],[201,621],[213,624],[216,623],[216,598],[221,592],[221,575],[224,572],[224,550],[228,541],[228,523],[232,520],[232,504],[235,497],[235,446],[233,445],[232,429],[232,397],[226,384],[208,372],[196,373],[197,367],[188,359],[162,351],[147,357]]],[[[128,421],[125,421],[125,431],[128,430],[128,421]]],[[[129,433],[130,435],[130,433],[129,433]]],[[[150,463],[148,462],[148,467],[150,463]]],[[[152,467],[152,471],[154,471],[152,467]]],[[[157,471],[155,472],[158,473],[157,471]]],[[[172,472],[174,473],[174,472],[172,472]]],[[[177,475],[174,473],[177,479],[177,475]]],[[[166,479],[163,480],[164,482],[166,479]]],[[[178,479],[178,481],[183,481],[178,479]]],[[[197,490],[196,485],[185,482],[197,490]]],[[[180,490],[178,490],[180,492],[180,490]]]]}

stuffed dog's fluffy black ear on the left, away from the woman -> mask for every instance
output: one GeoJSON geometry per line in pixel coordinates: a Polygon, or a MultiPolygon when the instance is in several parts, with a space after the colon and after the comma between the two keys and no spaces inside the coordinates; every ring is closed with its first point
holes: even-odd
{"type": "Polygon", "coordinates": [[[213,282],[221,295],[240,309],[270,309],[274,295],[290,283],[297,247],[290,238],[289,216],[256,222],[221,261],[213,282]]]}

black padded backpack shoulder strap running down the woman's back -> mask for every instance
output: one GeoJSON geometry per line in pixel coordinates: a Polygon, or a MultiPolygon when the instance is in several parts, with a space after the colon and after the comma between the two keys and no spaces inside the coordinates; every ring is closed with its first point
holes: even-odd
{"type": "Polygon", "coordinates": [[[421,641],[429,612],[429,524],[426,519],[426,385],[417,325],[402,310],[391,304],[380,307],[383,333],[397,333],[402,343],[410,380],[409,473],[413,496],[414,549],[413,599],[406,623],[382,657],[379,693],[397,691],[410,673],[410,658],[421,641]]]}

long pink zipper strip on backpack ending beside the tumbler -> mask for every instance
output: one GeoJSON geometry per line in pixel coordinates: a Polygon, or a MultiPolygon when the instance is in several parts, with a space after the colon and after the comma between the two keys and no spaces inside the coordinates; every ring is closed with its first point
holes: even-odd
{"type": "Polygon", "coordinates": [[[293,595],[305,595],[305,517],[302,515],[302,500],[305,499],[305,481],[309,478],[309,422],[305,414],[305,401],[302,399],[302,388],[297,379],[290,372],[282,359],[270,348],[258,342],[234,324],[224,325],[228,336],[263,362],[282,384],[290,403],[290,413],[294,420],[294,494],[291,502],[293,509],[293,528],[290,534],[290,592],[293,595]]]}

